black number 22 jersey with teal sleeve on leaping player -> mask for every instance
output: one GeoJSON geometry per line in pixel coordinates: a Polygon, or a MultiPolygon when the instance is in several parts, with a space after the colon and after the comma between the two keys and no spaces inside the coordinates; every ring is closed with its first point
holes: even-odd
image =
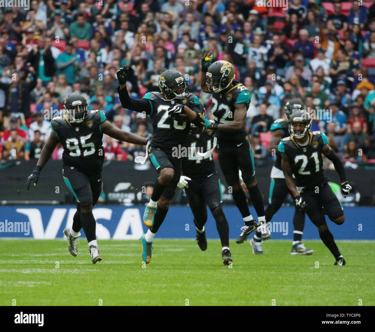
{"type": "MultiPolygon", "coordinates": [[[[228,123],[233,121],[236,104],[246,104],[246,110],[249,108],[251,101],[251,93],[242,83],[233,81],[235,84],[228,92],[212,93],[211,112],[215,123],[228,123]]],[[[244,128],[242,132],[224,132],[216,131],[215,136],[218,139],[240,141],[249,135],[244,128]]]]}

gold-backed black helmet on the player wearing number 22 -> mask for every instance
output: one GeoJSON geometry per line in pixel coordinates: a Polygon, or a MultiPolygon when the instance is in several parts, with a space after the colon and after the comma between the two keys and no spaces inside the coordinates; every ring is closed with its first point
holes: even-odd
{"type": "Polygon", "coordinates": [[[226,89],[236,78],[233,65],[225,60],[215,61],[208,67],[206,85],[210,92],[219,93],[226,89]]]}

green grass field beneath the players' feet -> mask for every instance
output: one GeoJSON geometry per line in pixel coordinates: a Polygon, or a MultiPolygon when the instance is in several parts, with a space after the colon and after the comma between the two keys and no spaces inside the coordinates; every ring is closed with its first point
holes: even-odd
{"type": "Polygon", "coordinates": [[[249,241],[231,240],[232,268],[219,240],[202,252],[193,240],[155,239],[145,268],[139,242],[98,243],[103,261],[94,265],[86,239],[78,257],[63,240],[0,240],[0,305],[375,305],[375,242],[338,241],[342,267],[320,241],[304,241],[311,256],[291,256],[281,240],[255,256],[249,241]]]}

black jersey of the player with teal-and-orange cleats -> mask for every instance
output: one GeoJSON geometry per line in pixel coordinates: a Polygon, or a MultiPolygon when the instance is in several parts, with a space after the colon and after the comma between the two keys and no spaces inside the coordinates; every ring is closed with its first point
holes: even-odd
{"type": "Polygon", "coordinates": [[[190,121],[179,122],[172,119],[168,114],[168,109],[176,104],[186,105],[188,102],[189,104],[192,102],[194,105],[200,106],[199,99],[192,93],[189,93],[187,98],[182,100],[174,99],[166,101],[160,92],[147,92],[143,99],[148,99],[151,105],[151,113],[148,115],[151,117],[154,129],[152,144],[171,153],[172,147],[181,144],[184,137],[190,131],[190,121]]]}

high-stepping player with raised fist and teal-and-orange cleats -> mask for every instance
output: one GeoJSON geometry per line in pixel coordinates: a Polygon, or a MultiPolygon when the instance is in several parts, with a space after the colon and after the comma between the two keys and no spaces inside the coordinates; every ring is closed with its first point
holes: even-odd
{"type": "Polygon", "coordinates": [[[181,114],[184,108],[188,108],[193,113],[192,119],[199,125],[198,113],[201,109],[198,98],[189,93],[189,85],[179,71],[164,71],[158,80],[160,92],[148,92],[143,99],[130,98],[126,89],[128,71],[126,66],[117,71],[121,105],[144,116],[149,115],[154,129],[152,143],[147,150],[159,177],[143,215],[143,222],[150,229],[140,239],[142,258],[150,263],[153,237],[165,219],[181,176],[181,158],[172,155],[173,148],[181,146],[190,131],[190,120],[185,115],[186,120],[180,121],[181,114]]]}

